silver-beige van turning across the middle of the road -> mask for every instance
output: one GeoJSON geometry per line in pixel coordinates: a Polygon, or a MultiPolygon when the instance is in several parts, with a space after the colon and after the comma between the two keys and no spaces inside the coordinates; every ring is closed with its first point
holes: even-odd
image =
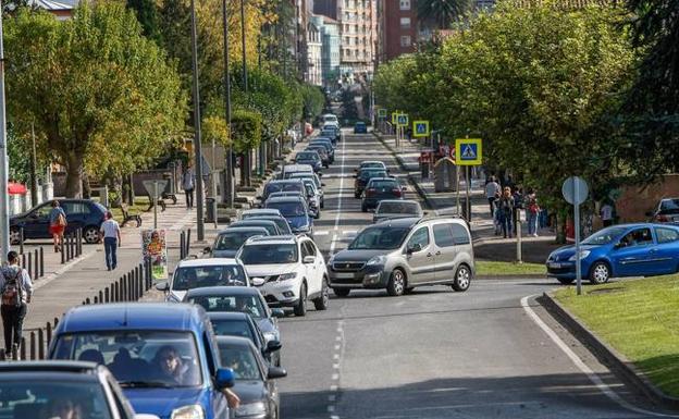
{"type": "Polygon", "coordinates": [[[386,288],[396,296],[442,284],[464,292],[474,273],[471,235],[456,218],[387,220],[366,227],[331,257],[328,273],[338,296],[355,288],[386,288]]]}

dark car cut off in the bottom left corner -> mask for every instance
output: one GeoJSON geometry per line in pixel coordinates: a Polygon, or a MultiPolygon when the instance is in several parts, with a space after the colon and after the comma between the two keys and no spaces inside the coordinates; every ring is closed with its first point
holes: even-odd
{"type": "Polygon", "coordinates": [[[159,419],[135,415],[111,372],[92,361],[0,362],[0,375],[2,418],[60,418],[73,409],[78,418],[159,419]]]}

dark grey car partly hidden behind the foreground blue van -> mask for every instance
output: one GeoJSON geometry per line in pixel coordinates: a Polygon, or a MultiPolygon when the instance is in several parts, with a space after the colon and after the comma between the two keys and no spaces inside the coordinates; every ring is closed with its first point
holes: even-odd
{"type": "Polygon", "coordinates": [[[275,380],[287,377],[287,372],[268,365],[247,338],[219,336],[220,363],[232,368],[235,375],[233,391],[240,398],[236,418],[277,419],[281,417],[281,400],[275,380]]]}

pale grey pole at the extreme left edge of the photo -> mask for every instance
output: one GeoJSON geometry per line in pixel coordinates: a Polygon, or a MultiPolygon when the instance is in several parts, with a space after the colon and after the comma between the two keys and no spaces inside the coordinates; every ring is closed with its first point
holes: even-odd
{"type": "Polygon", "coordinates": [[[7,262],[10,251],[10,195],[8,194],[9,161],[7,156],[7,121],[4,119],[4,47],[2,13],[0,13],[0,261],[7,262]]]}

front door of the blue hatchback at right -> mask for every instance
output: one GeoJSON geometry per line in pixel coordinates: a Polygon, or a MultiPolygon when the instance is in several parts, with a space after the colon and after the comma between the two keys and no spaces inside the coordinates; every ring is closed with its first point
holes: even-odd
{"type": "Polygon", "coordinates": [[[655,246],[650,227],[634,229],[627,233],[613,250],[616,276],[635,276],[657,273],[652,260],[655,246]]]}

